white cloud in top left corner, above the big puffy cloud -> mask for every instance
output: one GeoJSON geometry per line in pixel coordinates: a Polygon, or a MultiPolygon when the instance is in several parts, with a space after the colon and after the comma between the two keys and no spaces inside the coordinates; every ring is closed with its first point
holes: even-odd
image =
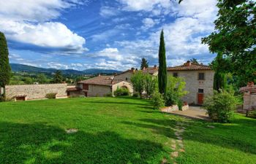
{"type": "Polygon", "coordinates": [[[61,15],[61,10],[86,3],[82,0],[0,1],[0,16],[11,20],[46,21],[61,15]]]}

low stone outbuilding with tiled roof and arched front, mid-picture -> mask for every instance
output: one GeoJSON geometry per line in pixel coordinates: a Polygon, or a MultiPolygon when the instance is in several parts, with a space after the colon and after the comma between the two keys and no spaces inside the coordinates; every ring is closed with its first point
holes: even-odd
{"type": "Polygon", "coordinates": [[[85,95],[86,97],[113,95],[118,88],[125,87],[133,93],[132,85],[113,76],[98,76],[78,82],[76,87],[69,87],[67,95],[85,95]]]}

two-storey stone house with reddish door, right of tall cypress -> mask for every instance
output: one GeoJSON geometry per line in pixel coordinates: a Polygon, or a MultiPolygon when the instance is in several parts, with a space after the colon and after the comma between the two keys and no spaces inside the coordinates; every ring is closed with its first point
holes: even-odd
{"type": "Polygon", "coordinates": [[[187,61],[181,66],[167,68],[167,74],[173,77],[182,77],[186,82],[189,93],[183,101],[188,104],[203,104],[203,98],[214,93],[214,71],[209,66],[187,61]]]}

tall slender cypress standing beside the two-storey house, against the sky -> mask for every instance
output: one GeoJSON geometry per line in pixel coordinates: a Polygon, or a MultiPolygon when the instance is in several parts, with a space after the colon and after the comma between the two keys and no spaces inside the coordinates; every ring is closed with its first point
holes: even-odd
{"type": "Polygon", "coordinates": [[[159,70],[158,70],[159,93],[165,94],[167,90],[167,66],[165,57],[165,37],[162,30],[159,45],[159,70]]]}

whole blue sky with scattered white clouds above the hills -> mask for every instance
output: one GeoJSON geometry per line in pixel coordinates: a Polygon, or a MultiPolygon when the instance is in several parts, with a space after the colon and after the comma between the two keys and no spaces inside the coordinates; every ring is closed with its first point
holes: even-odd
{"type": "Polygon", "coordinates": [[[0,31],[11,63],[55,69],[140,67],[158,63],[165,31],[167,65],[214,56],[200,39],[214,31],[216,0],[0,1],[0,31]]]}

